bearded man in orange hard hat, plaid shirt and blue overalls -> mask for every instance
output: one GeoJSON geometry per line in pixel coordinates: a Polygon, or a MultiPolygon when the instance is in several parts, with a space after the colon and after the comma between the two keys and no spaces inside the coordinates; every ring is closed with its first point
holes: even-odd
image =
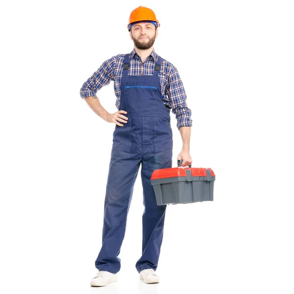
{"type": "Polygon", "coordinates": [[[182,166],[192,163],[191,110],[186,105],[183,84],[176,68],[153,49],[159,25],[151,9],[142,6],[134,9],[128,24],[133,51],[103,62],[80,90],[81,97],[99,117],[116,124],[104,203],[102,247],[95,262],[99,272],[91,280],[92,286],[117,281],[116,273],[121,269],[118,255],[140,164],[145,210],[142,256],[136,269],[145,283],[159,282],[155,270],[167,205],[156,204],[150,177],[156,169],[172,167],[171,109],[183,140],[177,159],[183,160],[182,166]],[[101,106],[96,96],[110,81],[114,81],[117,96],[118,111],[113,114],[101,106]]]}

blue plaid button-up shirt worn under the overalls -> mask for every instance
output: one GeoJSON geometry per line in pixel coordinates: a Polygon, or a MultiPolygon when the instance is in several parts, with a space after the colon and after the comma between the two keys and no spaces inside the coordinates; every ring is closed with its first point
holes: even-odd
{"type": "MultiPolygon", "coordinates": [[[[129,75],[152,75],[158,55],[153,51],[142,63],[135,49],[130,53],[129,75]]],[[[119,54],[104,61],[98,70],[83,84],[80,89],[81,98],[94,96],[99,89],[114,81],[114,92],[117,97],[116,107],[120,107],[121,79],[123,76],[124,54],[119,54]]],[[[177,69],[165,59],[162,60],[158,74],[161,82],[161,97],[163,103],[177,120],[177,128],[192,126],[191,110],[186,104],[186,92],[177,69]]]]}

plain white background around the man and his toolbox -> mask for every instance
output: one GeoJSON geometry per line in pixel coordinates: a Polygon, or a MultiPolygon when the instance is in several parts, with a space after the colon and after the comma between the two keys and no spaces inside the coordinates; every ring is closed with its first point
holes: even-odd
{"type": "MultiPolygon", "coordinates": [[[[294,293],[293,2],[189,2],[1,2],[2,293],[294,293]],[[133,49],[139,5],[161,23],[154,49],[182,78],[193,167],[216,173],[214,201],[168,206],[161,282],[147,285],[138,176],[119,281],[94,288],[115,125],[79,90],[133,49]]],[[[113,83],[98,97],[116,111],[113,83]]],[[[172,129],[176,166],[174,115],[172,129]]]]}

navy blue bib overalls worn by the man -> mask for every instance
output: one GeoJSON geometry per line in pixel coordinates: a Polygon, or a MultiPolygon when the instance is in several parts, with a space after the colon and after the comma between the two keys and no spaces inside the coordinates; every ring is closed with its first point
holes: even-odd
{"type": "Polygon", "coordinates": [[[134,183],[141,166],[143,185],[142,256],[138,272],[156,270],[163,238],[167,205],[157,205],[150,177],[154,170],[172,167],[172,129],[170,114],[163,103],[158,73],[158,56],[153,75],[128,75],[129,54],[124,56],[119,110],[128,117],[123,126],[115,126],[109,165],[102,247],[95,266],[117,273],[121,269],[121,251],[134,183]]]}

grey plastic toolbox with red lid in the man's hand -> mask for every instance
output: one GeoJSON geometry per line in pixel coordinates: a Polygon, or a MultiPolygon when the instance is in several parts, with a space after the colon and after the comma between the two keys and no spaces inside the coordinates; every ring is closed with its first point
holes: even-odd
{"type": "Polygon", "coordinates": [[[210,168],[181,167],[160,169],[152,172],[157,205],[213,201],[213,188],[216,179],[210,168]]]}

